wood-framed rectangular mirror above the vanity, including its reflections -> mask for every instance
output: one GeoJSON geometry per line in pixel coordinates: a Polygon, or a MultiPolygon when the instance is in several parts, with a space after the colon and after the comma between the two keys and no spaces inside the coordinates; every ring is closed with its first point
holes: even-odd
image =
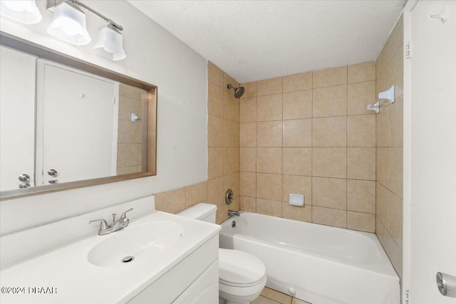
{"type": "Polygon", "coordinates": [[[0,38],[0,199],[155,175],[157,87],[0,38]]]}

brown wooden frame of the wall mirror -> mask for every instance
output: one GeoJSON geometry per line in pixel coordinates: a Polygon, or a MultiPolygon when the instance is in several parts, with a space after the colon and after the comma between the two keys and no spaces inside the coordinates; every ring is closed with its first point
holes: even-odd
{"type": "MultiPolygon", "coordinates": [[[[19,197],[58,192],[83,187],[91,187],[100,184],[121,182],[129,179],[151,177],[157,174],[157,86],[145,83],[141,80],[131,78],[106,68],[102,68],[93,63],[73,58],[66,54],[54,51],[51,48],[40,46],[36,43],[26,41],[22,38],[13,36],[9,33],[0,31],[0,45],[13,48],[17,51],[29,53],[38,58],[47,59],[72,68],[78,68],[88,73],[110,78],[126,85],[132,85],[147,91],[147,168],[146,171],[132,174],[123,174],[113,177],[101,177],[98,179],[86,179],[83,181],[66,182],[62,184],[50,184],[26,189],[14,189],[0,192],[0,201],[16,199],[19,197]]],[[[146,164],[143,164],[143,168],[146,164]]]]}

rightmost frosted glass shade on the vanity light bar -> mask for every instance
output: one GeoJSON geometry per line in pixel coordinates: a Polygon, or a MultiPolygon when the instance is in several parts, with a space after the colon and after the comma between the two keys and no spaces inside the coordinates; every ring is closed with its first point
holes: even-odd
{"type": "Polygon", "coordinates": [[[93,46],[93,52],[112,61],[120,61],[127,57],[123,51],[122,34],[115,28],[111,28],[109,24],[98,30],[98,39],[93,46]]]}

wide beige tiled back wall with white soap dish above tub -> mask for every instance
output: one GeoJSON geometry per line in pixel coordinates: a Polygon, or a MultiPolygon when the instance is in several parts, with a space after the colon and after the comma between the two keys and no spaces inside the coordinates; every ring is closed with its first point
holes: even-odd
{"type": "Polygon", "coordinates": [[[241,209],[375,232],[375,61],[242,85],[241,209]]]}

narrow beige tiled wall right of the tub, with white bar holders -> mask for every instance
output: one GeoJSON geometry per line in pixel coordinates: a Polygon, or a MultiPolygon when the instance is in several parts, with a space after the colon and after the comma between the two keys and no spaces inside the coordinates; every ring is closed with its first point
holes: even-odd
{"type": "Polygon", "coordinates": [[[377,93],[395,85],[395,103],[377,115],[376,233],[402,278],[403,254],[403,17],[377,58],[377,93]]]}

